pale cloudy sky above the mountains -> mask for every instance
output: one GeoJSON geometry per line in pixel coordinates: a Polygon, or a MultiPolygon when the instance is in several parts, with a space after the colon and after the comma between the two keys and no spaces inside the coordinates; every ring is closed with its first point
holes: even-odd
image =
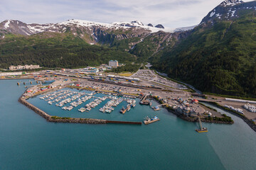
{"type": "Polygon", "coordinates": [[[0,0],[0,22],[16,19],[25,23],[58,23],[73,18],[102,23],[138,20],[179,28],[200,23],[222,1],[0,0]]]}

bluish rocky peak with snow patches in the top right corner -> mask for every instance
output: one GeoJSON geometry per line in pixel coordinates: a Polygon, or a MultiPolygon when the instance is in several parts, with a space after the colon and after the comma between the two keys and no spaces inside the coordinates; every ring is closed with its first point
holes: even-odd
{"type": "Polygon", "coordinates": [[[228,21],[242,16],[245,11],[256,11],[256,1],[243,2],[239,0],[225,0],[213,8],[202,23],[215,23],[215,21],[228,21]]]}

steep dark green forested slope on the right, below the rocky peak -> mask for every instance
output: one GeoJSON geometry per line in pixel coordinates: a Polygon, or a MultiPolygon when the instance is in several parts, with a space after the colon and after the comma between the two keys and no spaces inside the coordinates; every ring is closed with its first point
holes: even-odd
{"type": "Polygon", "coordinates": [[[151,61],[156,69],[202,91],[256,96],[255,11],[234,21],[202,24],[151,61]]]}

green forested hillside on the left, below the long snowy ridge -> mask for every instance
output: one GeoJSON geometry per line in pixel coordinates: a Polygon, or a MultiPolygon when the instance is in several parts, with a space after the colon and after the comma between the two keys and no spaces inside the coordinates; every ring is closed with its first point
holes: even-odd
{"type": "Polygon", "coordinates": [[[41,33],[31,36],[6,35],[0,40],[1,68],[14,64],[43,67],[84,67],[118,60],[134,62],[136,57],[109,47],[89,45],[71,33],[41,33]]]}

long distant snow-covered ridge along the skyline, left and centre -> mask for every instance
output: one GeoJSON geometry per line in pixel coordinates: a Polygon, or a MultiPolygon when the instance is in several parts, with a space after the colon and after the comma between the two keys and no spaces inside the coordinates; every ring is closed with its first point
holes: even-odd
{"type": "Polygon", "coordinates": [[[140,21],[131,22],[115,22],[115,23],[97,23],[84,20],[68,20],[61,23],[23,23],[16,20],[6,20],[0,23],[0,33],[13,33],[18,35],[33,35],[43,32],[65,33],[67,30],[77,34],[77,30],[82,30],[88,34],[95,33],[95,30],[132,30],[144,33],[156,33],[164,31],[166,33],[174,33],[175,29],[164,28],[161,24],[153,26],[152,24],[144,25],[140,21]]]}

